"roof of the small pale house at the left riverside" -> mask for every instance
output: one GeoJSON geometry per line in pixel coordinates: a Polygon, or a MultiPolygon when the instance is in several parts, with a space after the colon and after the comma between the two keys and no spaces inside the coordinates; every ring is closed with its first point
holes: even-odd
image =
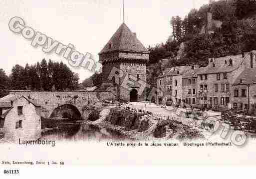
{"type": "Polygon", "coordinates": [[[7,96],[4,96],[2,98],[0,98],[0,107],[1,108],[10,108],[12,107],[11,102],[15,101],[19,98],[25,98],[27,101],[29,101],[30,103],[32,103],[34,106],[39,107],[40,105],[37,104],[36,102],[34,102],[33,100],[29,100],[24,96],[20,96],[20,95],[16,95],[16,94],[8,94],[7,96]]]}

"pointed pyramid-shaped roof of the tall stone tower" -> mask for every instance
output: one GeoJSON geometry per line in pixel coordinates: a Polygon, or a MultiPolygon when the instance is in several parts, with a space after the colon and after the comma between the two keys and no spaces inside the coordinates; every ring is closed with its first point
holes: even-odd
{"type": "Polygon", "coordinates": [[[136,33],[133,33],[125,23],[120,25],[99,54],[119,50],[149,53],[144,45],[138,40],[136,33]]]}

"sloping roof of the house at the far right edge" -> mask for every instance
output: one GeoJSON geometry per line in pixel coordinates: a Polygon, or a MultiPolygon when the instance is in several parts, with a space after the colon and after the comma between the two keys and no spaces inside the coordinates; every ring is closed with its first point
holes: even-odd
{"type": "Polygon", "coordinates": [[[255,83],[256,69],[255,68],[245,68],[240,75],[236,78],[233,85],[248,85],[255,83]],[[242,79],[242,83],[241,83],[242,79]]]}

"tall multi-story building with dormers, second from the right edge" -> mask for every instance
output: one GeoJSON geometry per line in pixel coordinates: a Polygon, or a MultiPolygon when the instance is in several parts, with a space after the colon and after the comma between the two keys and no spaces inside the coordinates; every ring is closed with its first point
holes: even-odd
{"type": "Polygon", "coordinates": [[[198,73],[199,105],[213,108],[232,107],[232,85],[245,68],[256,67],[255,51],[242,55],[209,58],[198,73]]]}

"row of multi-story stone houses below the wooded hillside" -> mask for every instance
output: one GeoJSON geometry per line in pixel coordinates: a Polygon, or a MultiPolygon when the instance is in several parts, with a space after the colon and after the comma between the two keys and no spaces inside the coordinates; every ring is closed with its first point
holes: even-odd
{"type": "Polygon", "coordinates": [[[192,107],[250,110],[256,103],[256,50],[209,58],[206,67],[166,68],[157,77],[157,104],[182,102],[192,107]]]}

